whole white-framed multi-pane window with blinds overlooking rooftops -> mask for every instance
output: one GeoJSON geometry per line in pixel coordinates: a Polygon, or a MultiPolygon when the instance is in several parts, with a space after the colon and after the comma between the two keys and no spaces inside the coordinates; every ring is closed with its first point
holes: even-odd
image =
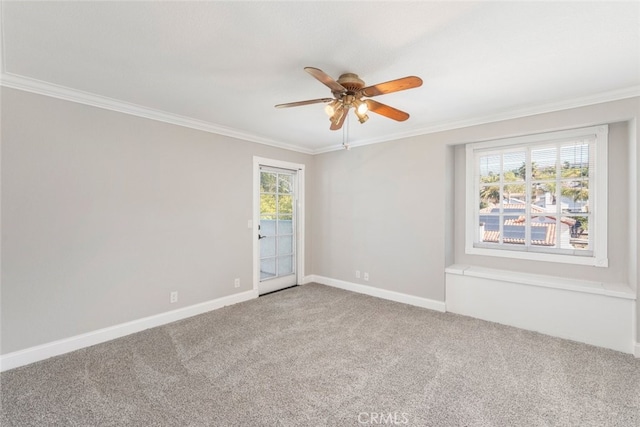
{"type": "Polygon", "coordinates": [[[466,252],[607,266],[608,126],[467,146],[466,252]]]}

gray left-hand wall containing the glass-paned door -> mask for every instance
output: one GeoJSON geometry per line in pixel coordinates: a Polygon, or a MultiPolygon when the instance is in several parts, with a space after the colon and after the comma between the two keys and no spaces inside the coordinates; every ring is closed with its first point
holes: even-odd
{"type": "Polygon", "coordinates": [[[2,353],[252,289],[254,155],[313,168],[309,155],[2,88],[2,353]]]}

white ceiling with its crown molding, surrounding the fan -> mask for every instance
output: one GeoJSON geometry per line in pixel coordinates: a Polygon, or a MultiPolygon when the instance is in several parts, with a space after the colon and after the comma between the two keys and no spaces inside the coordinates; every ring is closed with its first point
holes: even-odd
{"type": "Polygon", "coordinates": [[[2,84],[323,152],[640,95],[640,2],[2,1],[2,84]],[[330,131],[303,71],[416,75],[330,131]]]}

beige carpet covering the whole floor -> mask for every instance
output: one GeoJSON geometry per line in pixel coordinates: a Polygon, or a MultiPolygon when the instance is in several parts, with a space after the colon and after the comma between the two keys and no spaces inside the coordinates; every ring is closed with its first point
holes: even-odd
{"type": "Polygon", "coordinates": [[[310,284],[2,373],[5,426],[639,426],[631,355],[310,284]]]}

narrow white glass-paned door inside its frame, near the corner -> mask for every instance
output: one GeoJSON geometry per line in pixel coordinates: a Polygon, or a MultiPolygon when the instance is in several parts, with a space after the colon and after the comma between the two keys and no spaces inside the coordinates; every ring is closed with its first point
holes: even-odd
{"type": "Polygon", "coordinates": [[[297,184],[297,171],[260,165],[260,294],[298,283],[297,184]]]}

